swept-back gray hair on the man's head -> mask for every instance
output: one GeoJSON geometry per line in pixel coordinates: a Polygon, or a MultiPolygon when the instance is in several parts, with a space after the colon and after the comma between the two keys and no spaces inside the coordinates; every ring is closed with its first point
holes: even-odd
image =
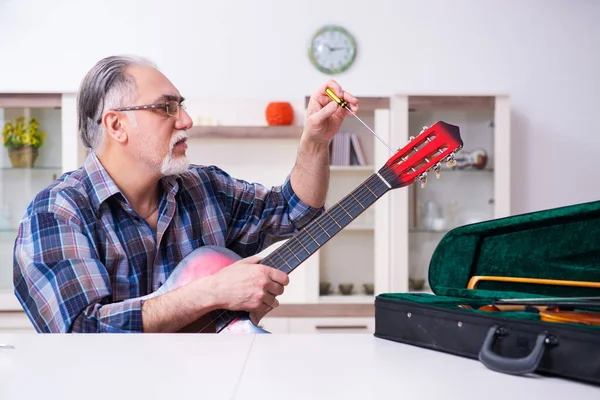
{"type": "Polygon", "coordinates": [[[102,149],[104,128],[98,120],[105,110],[132,105],[137,88],[127,71],[136,65],[156,67],[138,56],[110,56],[96,63],[83,78],[77,93],[77,127],[86,148],[95,152],[102,149]]]}

